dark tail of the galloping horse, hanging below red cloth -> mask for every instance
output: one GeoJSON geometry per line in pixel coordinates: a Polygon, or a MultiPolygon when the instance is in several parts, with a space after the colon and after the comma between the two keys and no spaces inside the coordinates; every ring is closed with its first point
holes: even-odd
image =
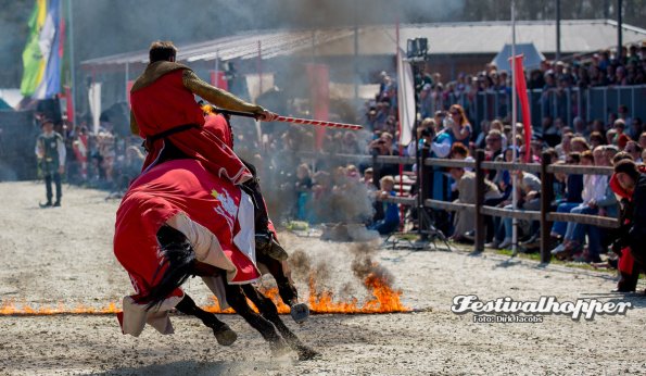
{"type": "Polygon", "coordinates": [[[164,225],[157,231],[157,240],[164,255],[164,262],[157,268],[153,279],[156,279],[157,273],[164,266],[166,266],[166,270],[160,283],[150,289],[148,296],[142,298],[143,301],[148,302],[147,310],[161,304],[173,290],[193,275],[195,252],[180,230],[164,225]]]}

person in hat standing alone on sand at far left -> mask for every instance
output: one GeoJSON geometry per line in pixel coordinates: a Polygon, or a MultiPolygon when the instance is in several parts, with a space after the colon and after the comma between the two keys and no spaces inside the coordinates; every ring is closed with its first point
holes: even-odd
{"type": "Polygon", "coordinates": [[[65,171],[65,142],[63,136],[54,131],[54,123],[50,118],[42,120],[42,133],[36,139],[36,156],[38,158],[40,171],[45,176],[45,188],[47,189],[47,203],[42,208],[52,206],[52,179],[56,185],[56,201],[53,206],[61,205],[61,175],[65,171]]]}

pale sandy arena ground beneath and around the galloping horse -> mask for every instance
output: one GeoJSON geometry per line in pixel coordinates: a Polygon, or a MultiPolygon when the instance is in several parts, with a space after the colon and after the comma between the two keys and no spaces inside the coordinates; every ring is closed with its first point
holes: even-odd
{"type": "MultiPolygon", "coordinates": [[[[126,273],[112,254],[118,201],[106,201],[102,191],[69,187],[64,195],[63,208],[41,210],[41,184],[0,184],[0,305],[104,306],[130,293],[126,273]]],[[[291,234],[282,239],[288,250],[304,251],[315,267],[328,272],[321,285],[342,296],[368,297],[351,272],[355,245],[291,234]]],[[[173,336],[148,327],[134,338],[121,334],[113,315],[0,316],[0,374],[646,374],[646,298],[609,293],[613,275],[509,261],[491,252],[373,252],[373,260],[395,276],[404,303],[417,312],[315,315],[302,326],[284,316],[304,342],[321,352],[320,360],[271,359],[261,336],[235,315],[221,316],[239,334],[228,348],[218,346],[193,317],[174,316],[173,336]],[[596,298],[630,301],[633,309],[590,322],[547,315],[540,324],[480,324],[471,313],[451,312],[454,296],[471,293],[481,300],[596,298]]],[[[296,277],[305,294],[306,284],[296,277]]],[[[644,287],[641,283],[642,291],[644,287]]],[[[207,302],[198,279],[187,290],[207,302]]]]}

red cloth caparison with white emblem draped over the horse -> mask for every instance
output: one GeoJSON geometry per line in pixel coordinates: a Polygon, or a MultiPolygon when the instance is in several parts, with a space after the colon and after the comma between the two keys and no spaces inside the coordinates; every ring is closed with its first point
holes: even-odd
{"type": "MultiPolygon", "coordinates": [[[[156,234],[166,221],[179,212],[213,233],[225,255],[237,267],[230,283],[249,283],[259,273],[254,260],[233,243],[240,230],[238,208],[240,189],[204,170],[195,160],[168,161],[139,176],[124,197],[116,213],[114,253],[130,275],[138,298],[159,283],[163,256],[156,234]],[[156,277],[155,277],[155,273],[156,277]]],[[[172,296],[181,297],[177,289],[172,296]]]]}

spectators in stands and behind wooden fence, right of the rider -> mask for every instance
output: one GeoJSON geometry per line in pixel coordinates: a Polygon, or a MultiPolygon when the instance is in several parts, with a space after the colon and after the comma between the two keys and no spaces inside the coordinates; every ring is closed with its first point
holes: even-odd
{"type": "MultiPolygon", "coordinates": [[[[527,72],[530,89],[558,90],[571,87],[625,86],[644,84],[646,45],[624,50],[621,59],[609,51],[600,51],[587,60],[577,58],[569,63],[545,61],[539,70],[527,72]],[[600,73],[603,72],[603,74],[600,73]]],[[[524,145],[523,126],[516,124],[517,148],[514,148],[510,114],[483,121],[474,126],[467,110],[452,101],[448,93],[473,93],[486,90],[509,90],[511,77],[495,66],[476,75],[458,76],[457,82],[443,85],[439,74],[426,70],[416,76],[419,121],[416,125],[418,145],[397,145],[397,85],[391,75],[382,72],[380,89],[373,100],[366,103],[365,134],[327,131],[320,150],[326,158],[304,158],[295,166],[295,202],[291,217],[309,222],[364,222],[382,234],[415,224],[415,208],[398,208],[380,201],[388,196],[415,196],[416,166],[396,164],[373,165],[371,155],[415,156],[421,148],[430,155],[442,159],[471,160],[477,149],[485,151],[489,161],[514,161],[514,154],[531,163],[541,163],[549,155],[550,163],[610,167],[622,159],[643,163],[646,159],[646,128],[631,109],[621,104],[608,118],[584,118],[582,114],[568,118],[546,115],[534,126],[531,142],[524,145]],[[439,100],[440,99],[440,100],[439,100]],[[433,105],[430,105],[433,103],[433,105]],[[364,155],[350,161],[350,156],[364,155]],[[308,163],[307,163],[308,161],[308,163]],[[377,168],[373,168],[377,167],[377,168]],[[313,171],[315,171],[313,173],[313,171]],[[378,173],[378,174],[377,174],[378,173]],[[377,176],[376,176],[377,174],[377,176]],[[402,184],[403,183],[403,184],[402,184]],[[359,189],[362,188],[362,189],[359,189]],[[404,191],[402,191],[404,189],[404,191]],[[370,200],[366,201],[367,197],[370,200]],[[368,204],[368,203],[371,203],[368,204]],[[372,215],[372,214],[373,215],[372,215]],[[392,225],[400,223],[400,226],[392,225]],[[388,225],[384,225],[388,224],[388,225]]],[[[633,109],[634,110],[634,109],[633,109]]],[[[314,135],[294,131],[269,135],[273,153],[283,150],[305,151],[316,147],[314,135]],[[299,139],[301,137],[301,139],[299,139]],[[302,139],[302,138],[305,139],[302,139]],[[296,138],[296,139],[294,139],[296,138]]],[[[299,154],[303,155],[303,153],[299,154]]],[[[270,162],[271,163],[271,162],[270,162]]],[[[276,167],[273,167],[276,168],[276,167]]],[[[280,170],[280,168],[278,168],[280,170]]],[[[278,174],[280,175],[280,174],[278,174]]],[[[290,173],[284,173],[288,177],[290,173]]],[[[428,189],[432,199],[474,203],[474,173],[468,168],[434,168],[433,185],[428,189]]],[[[517,210],[539,210],[541,179],[539,174],[522,171],[490,171],[485,181],[485,205],[511,209],[512,179],[517,179],[517,210]]],[[[610,176],[555,174],[552,210],[559,213],[594,214],[617,217],[619,203],[609,185],[610,176]]],[[[430,211],[433,224],[455,241],[473,240],[472,215],[430,211]]],[[[486,217],[487,247],[509,248],[512,241],[510,218],[486,217]]],[[[540,245],[540,227],[535,221],[519,221],[521,249],[535,251],[540,245]]],[[[552,253],[562,260],[587,263],[601,262],[609,239],[597,226],[575,223],[555,223],[550,231],[552,253]]]]}

